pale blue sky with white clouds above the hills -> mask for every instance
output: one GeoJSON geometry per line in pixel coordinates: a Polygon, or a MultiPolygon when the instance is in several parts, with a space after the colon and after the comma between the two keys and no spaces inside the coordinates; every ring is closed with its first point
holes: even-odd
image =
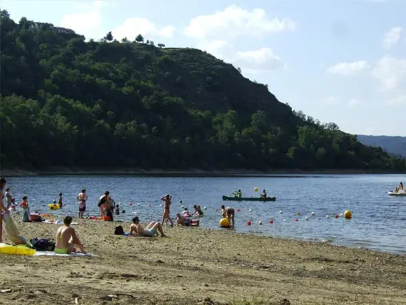
{"type": "Polygon", "coordinates": [[[86,39],[205,50],[279,101],[350,134],[406,136],[406,1],[0,0],[86,39]]]}

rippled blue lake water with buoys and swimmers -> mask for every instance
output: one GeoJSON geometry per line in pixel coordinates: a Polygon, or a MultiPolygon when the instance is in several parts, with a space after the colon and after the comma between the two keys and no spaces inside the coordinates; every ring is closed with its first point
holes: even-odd
{"type": "Polygon", "coordinates": [[[202,227],[218,228],[222,195],[242,189],[243,196],[256,196],[258,187],[266,189],[276,202],[224,202],[240,209],[236,212],[235,230],[282,238],[329,241],[333,244],[365,247],[393,253],[406,253],[406,197],[391,197],[400,175],[329,175],[329,176],[264,176],[244,178],[151,178],[151,177],[25,177],[8,178],[8,187],[17,201],[28,196],[31,211],[76,215],[76,195],[87,189],[87,215],[98,215],[98,198],[109,190],[120,210],[126,213],[115,220],[130,220],[134,214],[142,222],[160,220],[160,196],[173,196],[171,215],[193,204],[206,207],[200,223],[202,227]],[[63,193],[66,207],[49,211],[47,204],[63,193]],[[129,205],[132,202],[132,205],[129,205]],[[151,207],[148,205],[151,204],[151,207]],[[252,211],[249,211],[249,210],[252,211]],[[352,220],[334,219],[334,214],[350,209],[352,220]],[[282,214],[279,211],[283,211],[282,214]],[[297,215],[297,212],[300,215],[297,215]],[[311,213],[314,212],[315,216],[311,213]],[[330,215],[330,218],[325,218],[330,215]],[[306,221],[305,217],[309,220],[306,221]],[[295,222],[295,218],[299,221],[295,222]],[[273,224],[269,220],[274,220],[273,224]],[[248,226],[246,222],[252,221],[248,226]],[[259,220],[263,222],[259,224],[259,220]]]}

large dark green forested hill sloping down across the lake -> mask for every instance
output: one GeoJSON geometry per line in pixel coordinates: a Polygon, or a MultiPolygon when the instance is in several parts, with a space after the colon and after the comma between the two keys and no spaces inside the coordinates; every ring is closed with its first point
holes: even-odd
{"type": "Polygon", "coordinates": [[[1,76],[3,167],[406,167],[279,103],[233,65],[141,35],[85,42],[3,11],[1,76]]]}

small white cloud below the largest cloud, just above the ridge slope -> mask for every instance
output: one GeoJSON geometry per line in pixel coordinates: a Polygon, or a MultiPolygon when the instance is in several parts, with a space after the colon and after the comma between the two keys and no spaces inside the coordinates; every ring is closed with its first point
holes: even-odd
{"type": "Polygon", "coordinates": [[[243,71],[269,71],[283,67],[284,63],[270,48],[253,51],[239,51],[233,58],[233,63],[242,67],[243,71]]]}

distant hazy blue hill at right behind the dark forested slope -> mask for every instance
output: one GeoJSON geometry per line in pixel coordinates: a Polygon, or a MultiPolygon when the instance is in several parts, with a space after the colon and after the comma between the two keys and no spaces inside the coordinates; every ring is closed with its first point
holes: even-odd
{"type": "Polygon", "coordinates": [[[374,147],[382,147],[389,154],[406,157],[406,136],[365,136],[359,134],[358,140],[374,147]]]}

